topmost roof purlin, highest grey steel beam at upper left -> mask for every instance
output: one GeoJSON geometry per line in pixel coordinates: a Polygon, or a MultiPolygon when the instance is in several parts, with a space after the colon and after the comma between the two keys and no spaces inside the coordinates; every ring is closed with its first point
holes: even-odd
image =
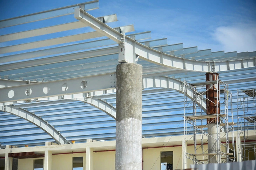
{"type": "Polygon", "coordinates": [[[13,25],[19,25],[19,24],[24,24],[29,22],[46,20],[46,19],[50,19],[58,16],[74,14],[73,9],[77,7],[80,7],[83,10],[97,9],[99,8],[99,0],[78,3],[78,4],[70,5],[67,7],[61,7],[61,8],[46,10],[39,13],[28,14],[28,15],[18,16],[18,17],[6,19],[6,20],[1,20],[0,28],[11,27],[13,25]]]}

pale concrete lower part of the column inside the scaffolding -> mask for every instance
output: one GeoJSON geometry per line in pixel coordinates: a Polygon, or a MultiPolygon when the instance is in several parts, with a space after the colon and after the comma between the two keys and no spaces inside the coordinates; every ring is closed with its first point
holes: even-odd
{"type": "MultiPolygon", "coordinates": [[[[220,126],[217,126],[216,123],[209,123],[207,125],[208,127],[208,153],[218,153],[218,148],[220,148],[220,140],[217,140],[218,134],[217,134],[217,128],[220,126]]],[[[218,130],[220,132],[220,129],[218,130]]],[[[218,163],[217,155],[209,155],[208,156],[208,163],[218,163]]]]}

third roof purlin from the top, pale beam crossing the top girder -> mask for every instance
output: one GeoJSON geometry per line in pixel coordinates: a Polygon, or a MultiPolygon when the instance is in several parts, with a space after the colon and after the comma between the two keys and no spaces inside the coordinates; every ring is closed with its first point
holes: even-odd
{"type": "MultiPolygon", "coordinates": [[[[99,21],[99,22],[101,22],[101,21],[99,21]]],[[[129,32],[129,31],[133,31],[134,27],[133,27],[133,25],[127,25],[127,26],[123,26],[123,27],[117,27],[115,29],[120,29],[120,30],[124,30],[124,32],[129,32]]],[[[5,46],[5,47],[0,48],[0,53],[3,54],[3,53],[15,52],[15,51],[29,50],[29,49],[70,43],[70,42],[91,39],[91,38],[97,38],[97,37],[102,37],[102,34],[99,34],[97,31],[86,32],[86,33],[82,33],[82,34],[75,34],[75,35],[70,35],[70,36],[65,36],[65,37],[58,37],[58,38],[46,39],[46,40],[41,40],[41,41],[36,41],[36,42],[5,46]]]]}

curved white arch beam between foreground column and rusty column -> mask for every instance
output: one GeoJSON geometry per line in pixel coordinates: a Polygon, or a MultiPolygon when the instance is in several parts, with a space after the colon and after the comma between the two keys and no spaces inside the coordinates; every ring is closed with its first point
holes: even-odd
{"type": "Polygon", "coordinates": [[[195,95],[196,91],[193,90],[191,87],[187,86],[185,84],[186,89],[183,89],[183,83],[182,81],[160,76],[160,77],[150,77],[150,78],[144,78],[143,79],[143,88],[152,88],[152,87],[158,87],[158,88],[169,88],[176,90],[180,93],[183,93],[191,100],[195,99],[195,102],[198,106],[202,108],[204,112],[206,112],[206,101],[205,99],[195,95]]]}

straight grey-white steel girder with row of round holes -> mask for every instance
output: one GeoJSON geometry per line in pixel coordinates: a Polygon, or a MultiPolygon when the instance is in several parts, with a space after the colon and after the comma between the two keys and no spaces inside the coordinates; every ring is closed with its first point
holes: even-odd
{"type": "Polygon", "coordinates": [[[115,79],[115,73],[112,73],[0,88],[1,96],[5,96],[0,98],[0,103],[51,96],[64,98],[64,95],[71,95],[70,98],[74,98],[72,94],[113,89],[116,86],[115,79]]]}

